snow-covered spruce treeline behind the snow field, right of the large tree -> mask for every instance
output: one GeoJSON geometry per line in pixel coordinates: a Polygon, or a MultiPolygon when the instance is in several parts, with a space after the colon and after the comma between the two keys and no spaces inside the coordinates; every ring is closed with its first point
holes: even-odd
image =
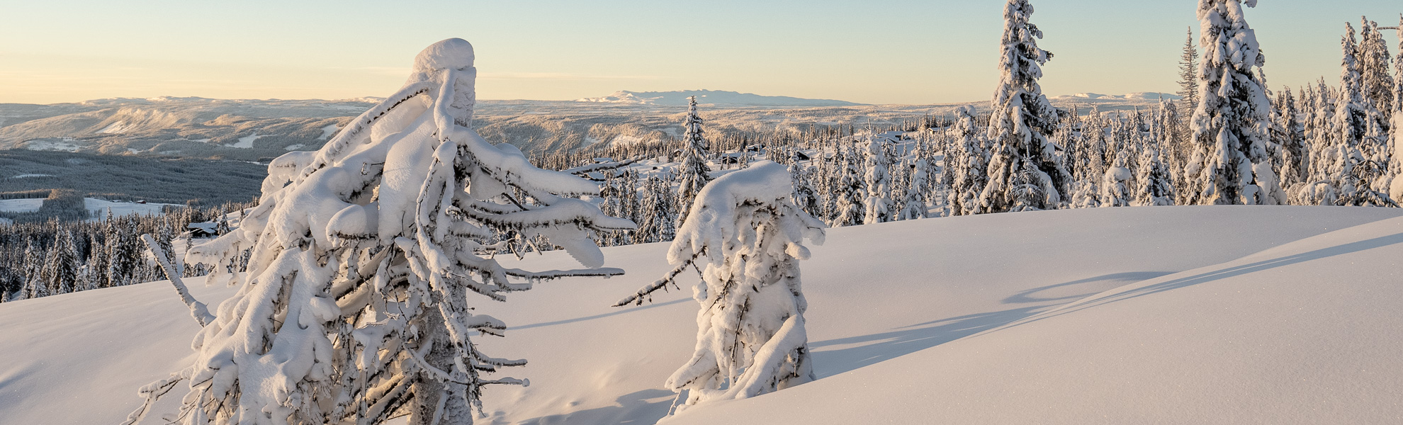
{"type": "MultiPolygon", "coordinates": [[[[581,175],[605,182],[599,202],[640,223],[689,208],[669,191],[679,189],[680,170],[696,168],[680,166],[692,151],[706,156],[713,178],[760,158],[790,166],[796,203],[831,226],[1096,206],[1396,206],[1403,45],[1390,52],[1375,21],[1362,20],[1358,38],[1347,24],[1340,86],[1320,79],[1273,91],[1243,6],[1201,1],[1201,36],[1190,31],[1180,58],[1184,98],[1157,107],[1049,107],[1037,79],[1052,56],[1037,48],[1031,6],[1014,0],[993,114],[960,108],[895,128],[815,126],[707,139],[700,150],[687,139],[537,158],[554,168],[596,164],[581,175]]],[[[706,135],[697,123],[687,119],[685,133],[706,135]]],[[[644,226],[602,243],[665,241],[671,231],[644,226]]]]}

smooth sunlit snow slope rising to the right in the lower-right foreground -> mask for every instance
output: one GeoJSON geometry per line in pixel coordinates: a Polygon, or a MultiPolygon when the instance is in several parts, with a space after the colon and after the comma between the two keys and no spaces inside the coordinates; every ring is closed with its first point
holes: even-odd
{"type": "Polygon", "coordinates": [[[1397,424],[1400,243],[1367,223],[665,424],[1397,424]]]}

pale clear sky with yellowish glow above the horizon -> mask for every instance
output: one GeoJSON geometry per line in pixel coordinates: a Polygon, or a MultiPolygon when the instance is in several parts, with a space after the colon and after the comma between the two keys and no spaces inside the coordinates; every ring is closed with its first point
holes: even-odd
{"type": "MultiPolygon", "coordinates": [[[[1195,0],[1034,0],[1044,91],[1174,91],[1195,0]]],[[[868,104],[989,98],[1003,1],[0,0],[0,102],[386,95],[424,46],[477,48],[480,98],[734,90],[868,104]]],[[[1397,0],[1260,0],[1275,88],[1340,74],[1344,22],[1397,0]]],[[[1388,31],[1390,49],[1397,38],[1388,31]]],[[[1396,52],[1395,52],[1396,53],[1396,52]]]]}

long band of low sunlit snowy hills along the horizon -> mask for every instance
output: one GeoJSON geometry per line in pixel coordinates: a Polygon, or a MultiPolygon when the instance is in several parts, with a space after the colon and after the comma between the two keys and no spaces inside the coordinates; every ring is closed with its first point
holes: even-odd
{"type": "MultiPolygon", "coordinates": [[[[707,132],[718,137],[756,130],[801,130],[812,123],[892,126],[951,116],[961,105],[861,105],[836,100],[735,91],[619,91],[578,101],[478,101],[473,126],[492,143],[523,151],[571,150],[596,143],[666,140],[680,135],[686,98],[696,95],[707,132]]],[[[1159,93],[1052,97],[1058,108],[1101,112],[1150,108],[1159,93]]],[[[1179,98],[1164,94],[1164,98],[1179,98]]],[[[210,100],[198,97],[108,98],[76,104],[0,104],[0,149],[97,154],[156,154],[260,161],[289,150],[320,149],[380,98],[210,100]]]]}

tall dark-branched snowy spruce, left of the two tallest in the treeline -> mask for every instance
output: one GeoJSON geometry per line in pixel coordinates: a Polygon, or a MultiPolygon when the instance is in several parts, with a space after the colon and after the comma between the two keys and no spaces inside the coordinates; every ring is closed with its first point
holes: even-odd
{"type": "Polygon", "coordinates": [[[1009,0],[1003,7],[1002,77],[993,93],[988,129],[988,139],[995,147],[988,167],[989,182],[979,194],[975,213],[1054,209],[1069,192],[1072,177],[1047,137],[1056,130],[1059,112],[1038,86],[1041,66],[1052,59],[1052,53],[1038,48],[1042,31],[1028,22],[1031,15],[1028,0],[1009,0]],[[1031,161],[1031,167],[1024,167],[1024,161],[1031,161]],[[1037,170],[1037,174],[1024,170],[1037,170]],[[1020,202],[1016,189],[1027,185],[1041,187],[1044,198],[1020,202]]]}

